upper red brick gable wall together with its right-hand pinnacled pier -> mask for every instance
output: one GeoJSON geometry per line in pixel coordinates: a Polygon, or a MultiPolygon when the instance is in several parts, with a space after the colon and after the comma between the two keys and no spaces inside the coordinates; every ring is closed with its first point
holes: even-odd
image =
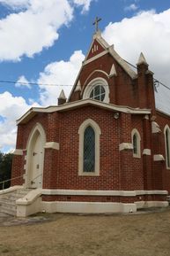
{"type": "MultiPolygon", "coordinates": [[[[83,66],[81,74],[79,74],[78,80],[82,86],[80,99],[83,98],[87,84],[92,79],[99,77],[107,80],[111,104],[150,108],[152,113],[155,114],[153,78],[152,73],[148,72],[147,65],[139,65],[137,67],[137,78],[132,80],[109,53],[94,59],[83,66]],[[113,64],[117,75],[109,77],[113,64]],[[107,74],[97,72],[97,70],[102,70],[107,74]]],[[[70,101],[75,100],[78,100],[78,92],[73,92],[70,97],[70,101]]]]}

